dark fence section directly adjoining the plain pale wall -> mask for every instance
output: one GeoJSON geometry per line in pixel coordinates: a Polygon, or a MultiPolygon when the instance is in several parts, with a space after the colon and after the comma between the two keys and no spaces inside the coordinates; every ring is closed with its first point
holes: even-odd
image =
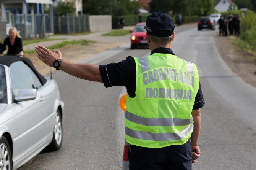
{"type": "Polygon", "coordinates": [[[83,33],[89,32],[89,14],[82,16],[66,15],[55,17],[54,33],[83,33]]]}

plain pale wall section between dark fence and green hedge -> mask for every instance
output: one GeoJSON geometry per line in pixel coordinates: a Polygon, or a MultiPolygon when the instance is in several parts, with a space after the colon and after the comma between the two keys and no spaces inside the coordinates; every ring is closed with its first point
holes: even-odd
{"type": "Polygon", "coordinates": [[[109,31],[112,30],[111,15],[90,15],[90,31],[109,31]]]}

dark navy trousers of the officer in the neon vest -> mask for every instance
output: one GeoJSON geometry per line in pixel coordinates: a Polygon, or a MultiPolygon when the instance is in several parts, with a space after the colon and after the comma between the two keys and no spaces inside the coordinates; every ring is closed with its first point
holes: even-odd
{"type": "Polygon", "coordinates": [[[129,170],[192,170],[191,142],[164,148],[130,145],[129,170]]]}

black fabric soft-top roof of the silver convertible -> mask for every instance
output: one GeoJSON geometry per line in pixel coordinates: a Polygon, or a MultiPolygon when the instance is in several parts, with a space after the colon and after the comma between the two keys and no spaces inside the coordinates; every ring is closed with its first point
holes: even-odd
{"type": "Polygon", "coordinates": [[[29,60],[28,58],[16,57],[16,56],[0,56],[0,64],[7,65],[8,67],[10,67],[11,64],[13,64],[14,62],[17,62],[17,61],[23,61],[36,74],[36,76],[38,77],[38,79],[41,81],[42,84],[46,83],[46,79],[44,78],[44,76],[42,76],[36,70],[36,68],[32,64],[31,60],[29,60]]]}

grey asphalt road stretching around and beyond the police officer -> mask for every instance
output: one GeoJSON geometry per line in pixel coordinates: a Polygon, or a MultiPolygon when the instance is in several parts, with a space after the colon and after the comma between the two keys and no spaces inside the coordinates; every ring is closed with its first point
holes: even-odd
{"type": "MultiPolygon", "coordinates": [[[[194,25],[175,30],[173,52],[197,64],[206,101],[201,110],[201,157],[193,170],[255,170],[256,89],[224,63],[214,31],[197,31],[194,25]]],[[[101,65],[147,54],[149,49],[131,50],[125,44],[81,62],[101,65]]],[[[124,112],[118,102],[125,88],[106,89],[102,83],[62,71],[52,76],[65,102],[62,148],[42,151],[19,170],[120,170],[125,138],[124,112]]]]}

